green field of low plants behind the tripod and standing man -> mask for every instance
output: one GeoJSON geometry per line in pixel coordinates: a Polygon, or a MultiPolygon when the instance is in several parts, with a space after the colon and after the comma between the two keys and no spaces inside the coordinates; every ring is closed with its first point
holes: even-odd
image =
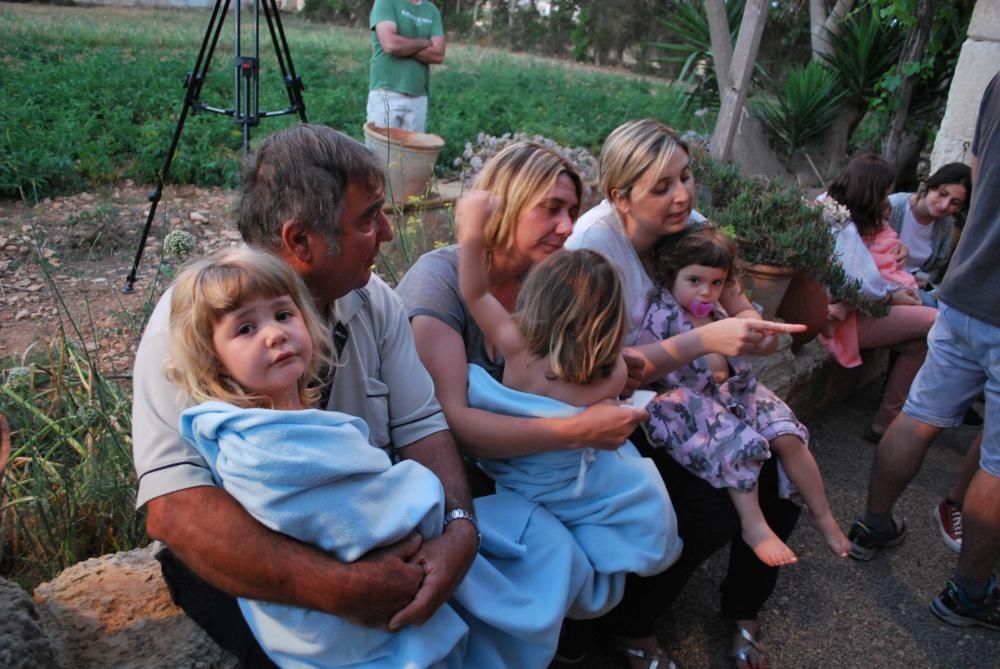
{"type": "MultiPolygon", "coordinates": [[[[70,8],[0,4],[0,197],[74,192],[124,178],[156,180],[183,103],[207,10],[70,8]]],[[[282,17],[311,122],[361,139],[367,97],[366,31],[282,17]]],[[[249,43],[244,15],[244,44],[249,43]]],[[[232,106],[228,16],[201,100],[232,106]]],[[[262,110],[287,105],[266,26],[261,39],[262,110]]],[[[449,166],[479,132],[527,132],[597,151],[614,127],[653,116],[680,129],[691,118],[683,93],[613,73],[491,49],[449,45],[435,67],[428,129],[447,144],[449,166]]],[[[263,119],[261,137],[297,116],[263,119]]],[[[241,132],[228,118],[188,118],[171,181],[233,186],[241,132]]]]}

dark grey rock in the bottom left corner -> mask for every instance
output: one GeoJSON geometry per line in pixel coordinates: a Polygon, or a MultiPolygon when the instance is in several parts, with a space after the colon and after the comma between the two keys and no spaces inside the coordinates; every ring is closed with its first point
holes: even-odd
{"type": "Polygon", "coordinates": [[[16,583],[0,578],[0,667],[56,669],[61,666],[31,597],[16,583]]]}

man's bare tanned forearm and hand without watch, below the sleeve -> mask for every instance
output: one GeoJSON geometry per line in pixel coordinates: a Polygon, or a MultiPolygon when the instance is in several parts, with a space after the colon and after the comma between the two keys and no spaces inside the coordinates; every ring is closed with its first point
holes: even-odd
{"type": "Polygon", "coordinates": [[[220,488],[185,488],[150,500],[146,527],[200,577],[237,597],[325,611],[386,628],[417,593],[423,569],[408,563],[420,538],[344,564],[273,532],[220,488]]]}

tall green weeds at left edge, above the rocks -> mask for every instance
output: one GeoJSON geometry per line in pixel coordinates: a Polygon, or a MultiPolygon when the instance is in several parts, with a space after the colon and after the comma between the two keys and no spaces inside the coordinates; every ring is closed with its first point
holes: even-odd
{"type": "Polygon", "coordinates": [[[0,482],[0,572],[27,585],[148,541],[135,510],[131,401],[65,339],[9,367],[0,413],[13,451],[0,482]]]}

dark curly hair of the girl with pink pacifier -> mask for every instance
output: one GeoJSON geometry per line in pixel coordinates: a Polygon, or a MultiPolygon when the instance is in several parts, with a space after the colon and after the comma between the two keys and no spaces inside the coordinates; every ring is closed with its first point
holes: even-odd
{"type": "Polygon", "coordinates": [[[660,239],[651,249],[650,257],[653,281],[671,291],[678,272],[688,265],[726,270],[726,286],[736,282],[742,267],[736,242],[713,225],[660,239]]]}

